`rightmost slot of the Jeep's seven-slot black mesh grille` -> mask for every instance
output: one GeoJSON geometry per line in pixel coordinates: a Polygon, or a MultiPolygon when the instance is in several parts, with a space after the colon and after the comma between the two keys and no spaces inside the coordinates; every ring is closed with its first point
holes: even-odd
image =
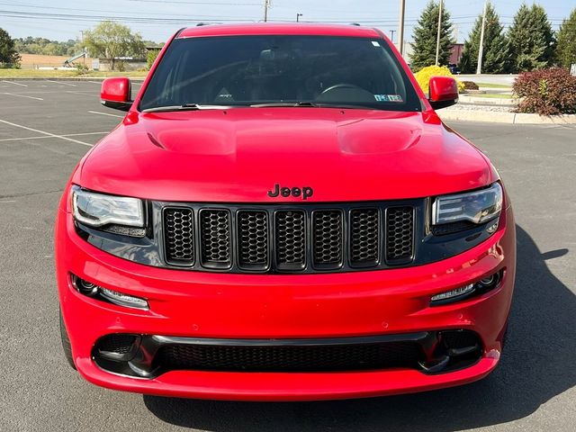
{"type": "Polygon", "coordinates": [[[414,209],[392,207],[386,211],[386,259],[408,261],[414,247],[414,209]]]}

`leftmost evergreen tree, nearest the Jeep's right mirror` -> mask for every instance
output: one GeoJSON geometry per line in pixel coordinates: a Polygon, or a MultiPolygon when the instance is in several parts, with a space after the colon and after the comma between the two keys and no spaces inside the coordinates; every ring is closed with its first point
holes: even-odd
{"type": "MultiPolygon", "coordinates": [[[[450,52],[454,45],[450,14],[445,6],[446,4],[442,8],[442,19],[440,20],[440,50],[438,55],[440,66],[448,64],[450,52]]],[[[414,46],[410,63],[415,71],[419,71],[422,67],[434,65],[436,62],[438,8],[439,4],[430,0],[420,15],[418,26],[414,29],[414,46]]]]}

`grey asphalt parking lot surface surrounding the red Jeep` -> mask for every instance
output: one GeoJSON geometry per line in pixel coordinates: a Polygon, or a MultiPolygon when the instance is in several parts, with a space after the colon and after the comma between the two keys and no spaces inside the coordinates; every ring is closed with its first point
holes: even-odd
{"type": "Polygon", "coordinates": [[[61,353],[52,229],[68,175],[121,121],[121,112],[100,105],[99,88],[97,81],[0,81],[0,431],[574,430],[573,126],[450,124],[499,168],[518,224],[509,345],[487,379],[313,403],[171,400],[85,383],[61,353]]]}

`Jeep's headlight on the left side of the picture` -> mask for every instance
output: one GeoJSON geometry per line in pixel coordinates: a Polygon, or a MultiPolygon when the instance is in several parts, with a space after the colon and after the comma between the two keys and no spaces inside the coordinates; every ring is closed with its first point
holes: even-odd
{"type": "Polygon", "coordinates": [[[144,227],[144,205],[138,198],[105,195],[72,188],[74,218],[91,227],[116,224],[144,227]]]}

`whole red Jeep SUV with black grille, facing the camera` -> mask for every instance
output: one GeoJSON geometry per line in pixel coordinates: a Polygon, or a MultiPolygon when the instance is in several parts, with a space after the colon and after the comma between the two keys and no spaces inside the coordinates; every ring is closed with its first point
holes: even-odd
{"type": "Polygon", "coordinates": [[[516,265],[491,162],[381,31],[183,29],[82,159],[56,221],[61,337],[91,383],[244,401],[471,383],[516,265]]]}

